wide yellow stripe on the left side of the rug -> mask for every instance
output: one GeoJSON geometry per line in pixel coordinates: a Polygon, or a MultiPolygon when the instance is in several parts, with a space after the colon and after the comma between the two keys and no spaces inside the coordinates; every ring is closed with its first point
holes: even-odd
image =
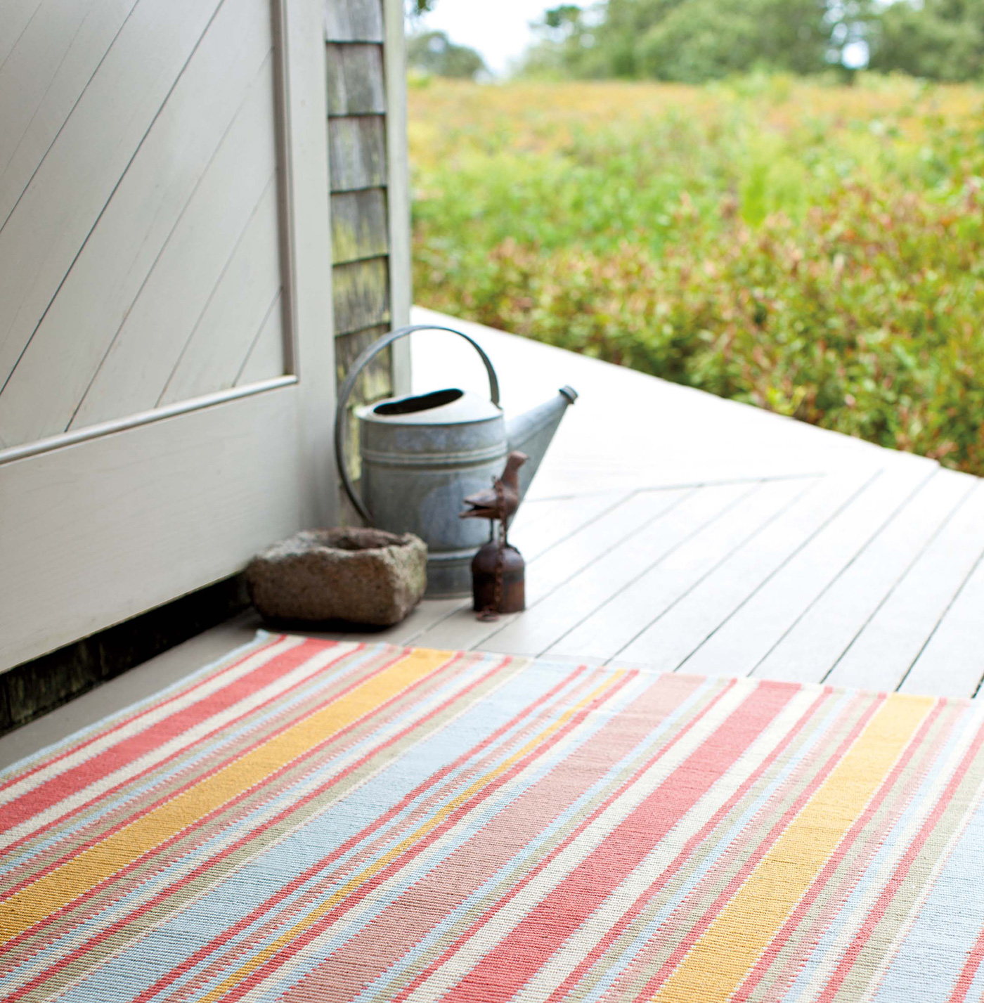
{"type": "Polygon", "coordinates": [[[95,888],[183,828],[262,782],[298,756],[445,665],[454,653],[415,649],[322,710],[201,780],[0,904],[6,943],[95,888]]]}

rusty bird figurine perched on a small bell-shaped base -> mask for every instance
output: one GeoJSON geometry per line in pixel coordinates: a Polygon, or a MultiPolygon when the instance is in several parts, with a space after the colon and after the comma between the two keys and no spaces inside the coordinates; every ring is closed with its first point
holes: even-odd
{"type": "Polygon", "coordinates": [[[526,453],[513,451],[506,457],[503,475],[488,490],[464,499],[468,506],[461,519],[487,519],[489,541],[471,562],[471,591],[479,620],[498,620],[501,613],[519,613],[526,609],[526,562],[523,555],[506,539],[510,520],[520,508],[520,467],[529,459],[526,453]],[[499,522],[499,542],[495,524],[499,522]]]}

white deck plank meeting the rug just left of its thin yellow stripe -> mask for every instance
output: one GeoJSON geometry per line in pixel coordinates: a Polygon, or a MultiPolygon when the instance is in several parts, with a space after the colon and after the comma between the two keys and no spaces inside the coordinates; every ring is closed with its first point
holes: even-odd
{"type": "Polygon", "coordinates": [[[556,641],[548,655],[612,658],[713,575],[729,556],[760,532],[804,490],[813,478],[767,481],[738,505],[651,568],[631,588],[556,641]]]}

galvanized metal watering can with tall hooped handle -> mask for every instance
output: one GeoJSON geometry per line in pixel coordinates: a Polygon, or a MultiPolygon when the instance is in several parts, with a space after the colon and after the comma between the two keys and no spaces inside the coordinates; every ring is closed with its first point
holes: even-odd
{"type": "Polygon", "coordinates": [[[520,469],[526,494],[554,432],[577,393],[565,386],[526,414],[506,420],[499,406],[499,379],[488,356],[468,335],[449,327],[403,327],[370,345],[342,385],[335,413],[335,457],[352,505],[370,526],[414,533],[427,545],[427,595],[464,596],[471,591],[471,558],[488,539],[480,520],[458,519],[467,494],[486,488],[503,472],[512,449],[529,459],[520,469]],[[359,373],[398,338],[413,331],[449,331],[469,342],[488,374],[490,400],[469,391],[392,397],[356,408],[362,460],[361,493],[345,461],[346,406],[359,373]]]}

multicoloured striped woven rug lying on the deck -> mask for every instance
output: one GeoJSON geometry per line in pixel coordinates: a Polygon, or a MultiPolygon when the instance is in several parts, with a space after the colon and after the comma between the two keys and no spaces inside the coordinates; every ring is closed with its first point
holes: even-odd
{"type": "Polygon", "coordinates": [[[0,997],[978,1000],[967,701],[261,634],[0,775],[0,997]]]}

